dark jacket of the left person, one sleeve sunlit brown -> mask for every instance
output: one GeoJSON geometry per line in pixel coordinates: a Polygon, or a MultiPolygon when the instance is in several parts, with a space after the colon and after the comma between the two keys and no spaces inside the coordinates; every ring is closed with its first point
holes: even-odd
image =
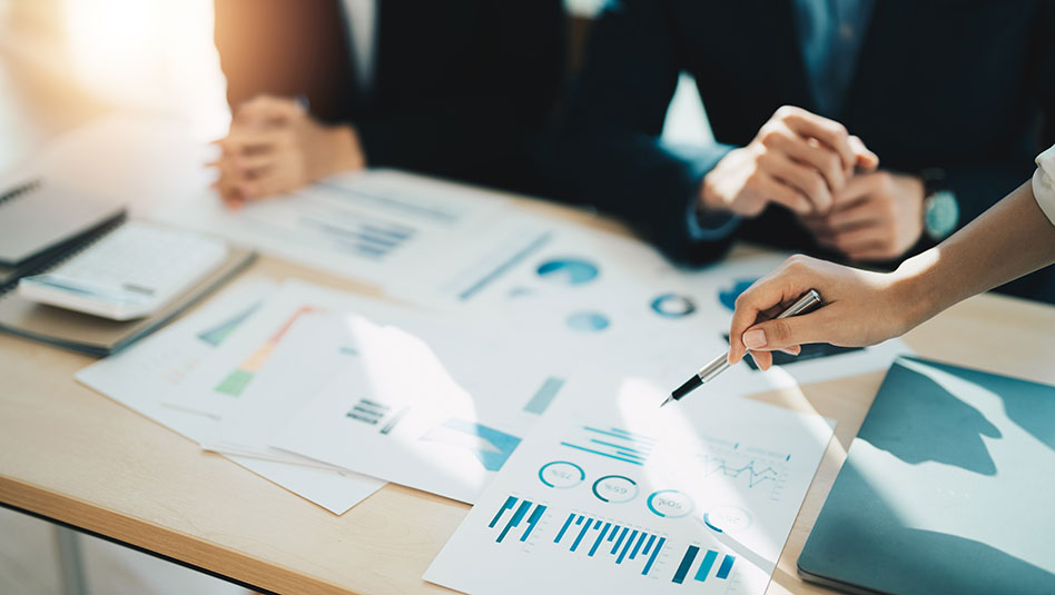
{"type": "Polygon", "coordinates": [[[368,93],[341,1],[216,0],[228,102],[303,93],[356,127],[369,166],[521,186],[563,82],[560,0],[378,0],[368,93]]]}

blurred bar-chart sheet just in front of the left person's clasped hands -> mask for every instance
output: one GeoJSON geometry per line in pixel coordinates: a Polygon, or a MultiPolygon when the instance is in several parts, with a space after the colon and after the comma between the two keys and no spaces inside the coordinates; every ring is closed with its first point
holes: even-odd
{"type": "Polygon", "coordinates": [[[282,258],[418,298],[485,276],[549,235],[496,192],[394,170],[327,178],[238,211],[213,194],[157,214],[282,258]]]}

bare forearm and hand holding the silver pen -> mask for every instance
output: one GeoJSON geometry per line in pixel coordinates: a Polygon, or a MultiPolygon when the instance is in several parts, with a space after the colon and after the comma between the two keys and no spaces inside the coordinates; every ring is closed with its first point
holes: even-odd
{"type": "Polygon", "coordinates": [[[952,237],[893,272],[870,272],[809,257],[790,258],[737,298],[729,361],[748,349],[762,369],[773,349],[808,343],[875,345],[907,333],[975,294],[1055,262],[1055,147],[1037,158],[1033,180],[952,237]],[[824,306],[770,319],[816,289],[824,306]]]}

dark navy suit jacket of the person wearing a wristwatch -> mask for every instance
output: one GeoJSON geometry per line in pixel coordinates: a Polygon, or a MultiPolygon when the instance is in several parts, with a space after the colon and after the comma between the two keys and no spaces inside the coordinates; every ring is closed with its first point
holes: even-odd
{"type": "MultiPolygon", "coordinates": [[[[683,261],[718,258],[733,237],[831,256],[779,207],[720,241],[696,241],[687,225],[702,176],[726,152],[782,105],[816,111],[792,19],[791,0],[611,2],[544,161],[558,189],[683,261]],[[659,140],[680,71],[696,77],[714,146],[659,140]]],[[[1042,127],[1055,115],[1055,3],[876,2],[844,105],[831,116],[880,167],[944,169],[966,224],[1027,180],[1055,140],[1042,127]]]]}

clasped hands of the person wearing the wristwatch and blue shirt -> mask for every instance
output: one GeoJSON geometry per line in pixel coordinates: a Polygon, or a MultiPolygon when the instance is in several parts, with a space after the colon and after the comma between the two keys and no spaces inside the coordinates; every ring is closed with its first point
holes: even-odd
{"type": "Polygon", "coordinates": [[[923,232],[924,189],[919,179],[878,166],[839,122],[786,106],[703,178],[699,204],[745,217],[780,205],[820,245],[851,260],[889,260],[923,232]]]}

